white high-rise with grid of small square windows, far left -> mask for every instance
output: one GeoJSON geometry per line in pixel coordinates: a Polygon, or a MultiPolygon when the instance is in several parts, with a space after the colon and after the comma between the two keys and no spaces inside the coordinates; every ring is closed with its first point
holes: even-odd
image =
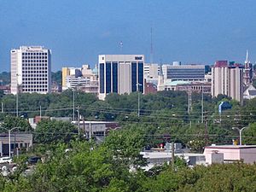
{"type": "Polygon", "coordinates": [[[42,46],[12,49],[11,93],[49,93],[51,84],[51,51],[42,46]]]}

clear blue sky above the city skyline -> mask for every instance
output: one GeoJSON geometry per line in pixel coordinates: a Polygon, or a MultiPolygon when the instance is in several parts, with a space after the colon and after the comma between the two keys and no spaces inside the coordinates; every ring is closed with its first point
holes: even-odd
{"type": "Polygon", "coordinates": [[[153,62],[256,61],[255,0],[0,0],[0,72],[21,45],[51,49],[54,72],[101,54],[149,62],[151,28],[153,62]]]}

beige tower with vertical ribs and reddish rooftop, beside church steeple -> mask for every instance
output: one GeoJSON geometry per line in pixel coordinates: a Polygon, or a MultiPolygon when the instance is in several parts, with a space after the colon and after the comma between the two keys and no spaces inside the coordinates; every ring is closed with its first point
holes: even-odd
{"type": "Polygon", "coordinates": [[[212,96],[223,94],[242,103],[243,67],[228,65],[228,61],[216,61],[212,67],[212,96]]]}

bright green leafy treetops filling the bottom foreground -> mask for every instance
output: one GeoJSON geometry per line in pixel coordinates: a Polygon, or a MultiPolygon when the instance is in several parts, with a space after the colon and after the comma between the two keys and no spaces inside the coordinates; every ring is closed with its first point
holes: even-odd
{"type": "MultiPolygon", "coordinates": [[[[116,137],[113,136],[114,138],[116,137]]],[[[174,167],[154,167],[149,172],[143,172],[137,167],[136,172],[131,172],[129,162],[125,161],[124,157],[114,154],[114,145],[109,141],[107,143],[107,146],[97,146],[89,142],[55,145],[55,148],[44,157],[44,163],[38,163],[31,175],[15,172],[7,177],[0,176],[0,190],[238,192],[254,191],[256,188],[255,164],[246,165],[238,162],[195,166],[191,169],[177,160],[174,167]]],[[[127,152],[123,148],[119,152],[125,152],[133,159],[132,151],[127,152]]],[[[24,169],[21,165],[19,170],[24,169]]]]}

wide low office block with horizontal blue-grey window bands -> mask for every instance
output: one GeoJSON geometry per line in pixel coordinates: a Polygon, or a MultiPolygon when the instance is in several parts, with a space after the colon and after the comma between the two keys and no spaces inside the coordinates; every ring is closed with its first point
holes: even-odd
{"type": "Polygon", "coordinates": [[[181,65],[179,61],[174,61],[173,65],[165,64],[162,66],[164,79],[171,81],[204,81],[204,65],[181,65]]]}

